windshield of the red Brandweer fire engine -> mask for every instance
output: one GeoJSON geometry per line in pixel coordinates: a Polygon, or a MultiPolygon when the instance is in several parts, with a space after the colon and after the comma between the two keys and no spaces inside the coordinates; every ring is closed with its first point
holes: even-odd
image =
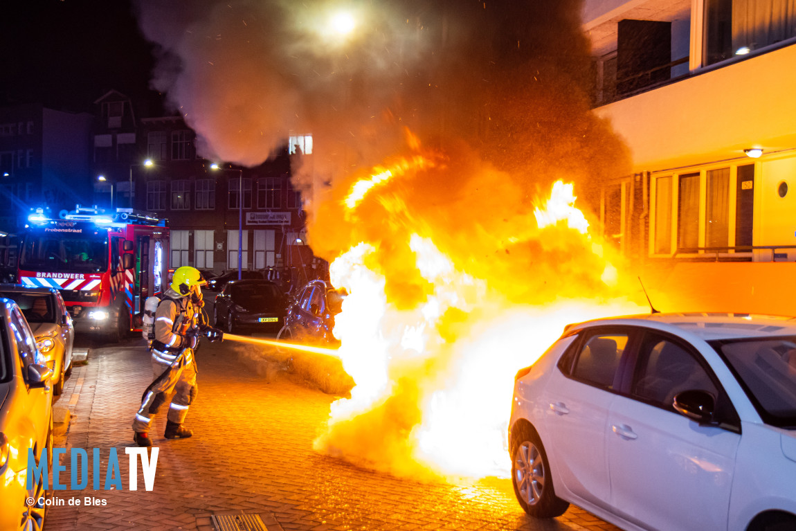
{"type": "Polygon", "coordinates": [[[19,267],[26,271],[106,271],[107,231],[31,232],[25,236],[19,267]]]}

